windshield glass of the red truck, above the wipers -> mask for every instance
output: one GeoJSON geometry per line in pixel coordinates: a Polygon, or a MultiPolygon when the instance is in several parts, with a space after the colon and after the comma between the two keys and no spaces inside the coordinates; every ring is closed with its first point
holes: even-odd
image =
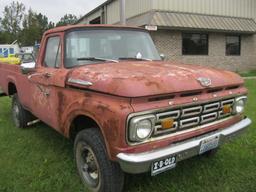
{"type": "Polygon", "coordinates": [[[113,60],[161,60],[147,32],[139,30],[81,30],[66,36],[67,68],[113,60]]]}

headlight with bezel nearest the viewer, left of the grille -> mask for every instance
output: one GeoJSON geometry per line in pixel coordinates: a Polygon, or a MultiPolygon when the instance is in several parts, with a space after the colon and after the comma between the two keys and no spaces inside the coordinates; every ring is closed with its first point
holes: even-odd
{"type": "Polygon", "coordinates": [[[154,126],[154,115],[132,118],[129,126],[129,139],[135,142],[142,142],[148,139],[154,131],[154,126]]]}

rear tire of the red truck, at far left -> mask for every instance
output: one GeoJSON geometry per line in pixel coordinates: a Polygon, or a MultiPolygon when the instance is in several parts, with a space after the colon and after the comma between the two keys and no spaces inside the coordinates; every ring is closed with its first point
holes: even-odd
{"type": "Polygon", "coordinates": [[[28,122],[34,119],[33,115],[21,105],[17,93],[12,97],[12,118],[17,128],[28,127],[28,122]]]}

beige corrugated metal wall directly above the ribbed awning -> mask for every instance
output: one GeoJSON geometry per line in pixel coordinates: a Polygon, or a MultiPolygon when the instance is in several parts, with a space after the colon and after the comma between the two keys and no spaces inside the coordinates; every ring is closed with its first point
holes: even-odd
{"type": "Polygon", "coordinates": [[[256,18],[255,0],[152,0],[152,9],[256,18]]]}

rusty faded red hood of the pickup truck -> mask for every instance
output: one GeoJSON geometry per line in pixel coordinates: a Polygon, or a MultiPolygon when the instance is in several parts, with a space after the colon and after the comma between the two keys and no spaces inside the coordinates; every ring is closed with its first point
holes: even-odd
{"type": "Polygon", "coordinates": [[[205,89],[198,78],[211,79],[211,88],[240,85],[240,76],[229,71],[170,62],[120,62],[93,64],[72,69],[68,79],[91,86],[68,85],[124,97],[142,97],[205,89]]]}

